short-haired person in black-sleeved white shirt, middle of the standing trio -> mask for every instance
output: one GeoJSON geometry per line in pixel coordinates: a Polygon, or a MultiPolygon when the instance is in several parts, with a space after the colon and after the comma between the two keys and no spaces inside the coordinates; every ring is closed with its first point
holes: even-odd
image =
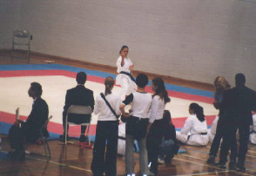
{"type": "Polygon", "coordinates": [[[136,78],[138,89],[125,98],[120,105],[122,115],[126,120],[126,144],[125,144],[125,172],[127,175],[135,175],[133,166],[133,144],[138,140],[139,166],[141,175],[148,174],[148,160],[145,144],[145,135],[149,123],[148,112],[152,103],[152,95],[145,92],[148,77],[139,74],[136,78]],[[125,106],[131,103],[130,114],[125,113],[125,106]]]}

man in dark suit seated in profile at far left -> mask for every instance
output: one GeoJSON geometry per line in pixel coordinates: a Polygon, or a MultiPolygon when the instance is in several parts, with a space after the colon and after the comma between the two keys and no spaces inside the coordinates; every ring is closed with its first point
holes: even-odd
{"type": "MultiPolygon", "coordinates": [[[[46,101],[41,98],[42,86],[37,82],[30,84],[28,91],[29,96],[34,100],[32,110],[27,121],[15,121],[14,125],[10,127],[10,159],[24,160],[24,140],[26,142],[35,142],[40,136],[40,129],[44,126],[45,121],[48,120],[48,105],[46,101]]],[[[43,132],[48,135],[47,129],[43,132]]]]}

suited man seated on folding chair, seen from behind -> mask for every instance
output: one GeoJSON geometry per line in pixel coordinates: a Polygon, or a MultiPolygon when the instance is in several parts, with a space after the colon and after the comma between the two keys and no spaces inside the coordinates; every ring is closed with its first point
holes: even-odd
{"type": "MultiPolygon", "coordinates": [[[[63,127],[65,127],[66,115],[68,108],[71,105],[81,105],[81,106],[90,106],[93,111],[94,108],[94,97],[93,91],[85,88],[84,83],[86,81],[87,75],[84,72],[77,73],[77,87],[71,88],[67,90],[64,104],[64,112],[63,112],[63,127]]],[[[69,128],[68,128],[69,130],[69,128]]],[[[86,126],[81,126],[81,135],[79,138],[80,142],[84,142],[86,140],[85,137],[86,126]]],[[[64,141],[64,135],[62,140],[64,141]]]]}

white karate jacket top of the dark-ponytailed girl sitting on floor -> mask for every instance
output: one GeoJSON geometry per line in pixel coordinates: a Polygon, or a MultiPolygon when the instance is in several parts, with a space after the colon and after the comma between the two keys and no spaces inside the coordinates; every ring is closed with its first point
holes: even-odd
{"type": "Polygon", "coordinates": [[[207,123],[205,121],[199,121],[196,114],[190,115],[185,120],[185,125],[181,129],[181,134],[201,134],[207,133],[207,123]]]}

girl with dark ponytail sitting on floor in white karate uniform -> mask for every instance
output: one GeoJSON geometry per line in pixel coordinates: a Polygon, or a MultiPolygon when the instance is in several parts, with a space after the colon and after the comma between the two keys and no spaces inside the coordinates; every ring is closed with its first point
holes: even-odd
{"type": "Polygon", "coordinates": [[[184,127],[176,132],[176,139],[186,145],[205,146],[208,144],[207,123],[204,109],[197,103],[191,103],[184,127]]]}

